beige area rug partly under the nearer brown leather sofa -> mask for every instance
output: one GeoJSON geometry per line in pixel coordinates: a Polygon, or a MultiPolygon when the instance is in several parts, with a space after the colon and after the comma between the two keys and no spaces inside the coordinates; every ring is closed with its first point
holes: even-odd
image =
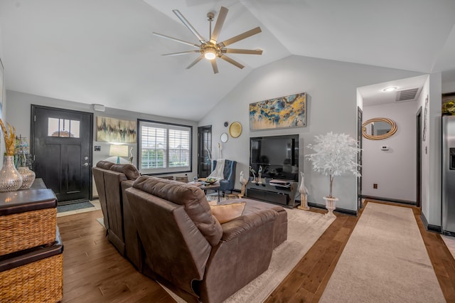
{"type": "MultiPolygon", "coordinates": [[[[273,253],[269,269],[255,280],[225,300],[234,302],[264,302],[282,280],[291,272],[306,252],[321,237],[335,218],[328,218],[321,213],[286,209],[288,216],[287,240],[273,253]]],[[[177,302],[185,302],[164,287],[177,302]]]]}

